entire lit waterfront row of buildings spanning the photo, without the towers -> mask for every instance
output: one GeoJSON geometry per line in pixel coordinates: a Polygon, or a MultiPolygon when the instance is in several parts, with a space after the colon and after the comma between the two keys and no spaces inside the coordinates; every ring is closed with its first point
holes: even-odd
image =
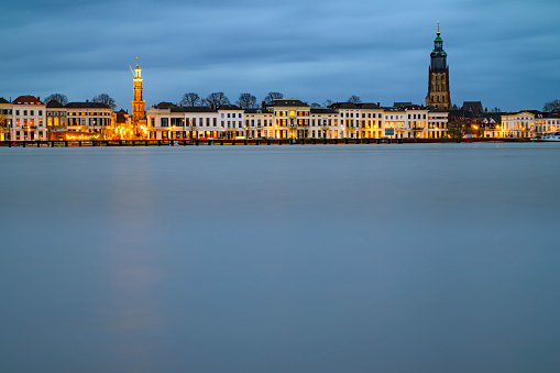
{"type": "Polygon", "coordinates": [[[234,105],[218,108],[161,102],[147,109],[141,125],[128,112],[100,102],[57,101],[39,97],[0,98],[0,140],[72,139],[439,139],[463,121],[477,138],[532,138],[560,131],[560,113],[441,111],[410,102],[337,102],[312,108],[297,99],[278,99],[257,109],[234,105]],[[448,124],[449,122],[449,124],[448,124]]]}

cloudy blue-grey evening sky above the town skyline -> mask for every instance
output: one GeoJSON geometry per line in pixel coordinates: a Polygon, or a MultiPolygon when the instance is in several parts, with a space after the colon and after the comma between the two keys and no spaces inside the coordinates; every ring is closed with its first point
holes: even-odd
{"type": "Polygon", "coordinates": [[[7,99],[107,92],[130,111],[140,57],[147,106],[188,91],[424,103],[437,21],[454,103],[513,111],[560,99],[558,0],[24,0],[0,10],[7,99]]]}

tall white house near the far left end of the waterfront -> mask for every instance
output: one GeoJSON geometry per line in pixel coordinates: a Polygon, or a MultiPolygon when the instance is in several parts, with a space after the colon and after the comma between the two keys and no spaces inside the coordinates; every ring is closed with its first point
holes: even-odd
{"type": "Polygon", "coordinates": [[[12,101],[10,140],[47,140],[46,106],[39,97],[20,96],[12,101]]]}

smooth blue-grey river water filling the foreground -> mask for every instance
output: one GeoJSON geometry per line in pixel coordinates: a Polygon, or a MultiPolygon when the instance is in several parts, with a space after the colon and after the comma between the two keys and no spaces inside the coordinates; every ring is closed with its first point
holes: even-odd
{"type": "Polygon", "coordinates": [[[0,149],[0,371],[558,372],[559,160],[0,149]]]}

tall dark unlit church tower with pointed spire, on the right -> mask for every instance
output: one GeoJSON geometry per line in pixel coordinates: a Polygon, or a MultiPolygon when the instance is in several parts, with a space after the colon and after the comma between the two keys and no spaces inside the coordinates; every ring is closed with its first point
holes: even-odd
{"type": "Polygon", "coordinates": [[[428,96],[426,106],[432,106],[441,110],[449,110],[451,96],[449,94],[449,66],[447,65],[447,53],[443,51],[443,40],[439,32],[433,41],[433,51],[430,54],[431,64],[428,77],[428,96]]]}

